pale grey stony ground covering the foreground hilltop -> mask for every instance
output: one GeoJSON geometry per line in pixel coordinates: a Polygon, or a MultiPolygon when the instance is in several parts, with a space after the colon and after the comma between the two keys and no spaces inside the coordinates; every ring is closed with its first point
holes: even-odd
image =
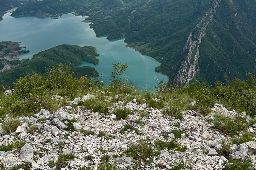
{"type": "MultiPolygon", "coordinates": [[[[55,100],[61,96],[57,97],[55,100]]],[[[134,166],[136,161],[127,152],[131,143],[136,143],[138,138],[141,137],[152,144],[159,139],[170,141],[173,138],[180,144],[180,147],[186,149],[185,152],[168,148],[160,150],[159,154],[153,157],[152,160],[147,160],[151,161],[150,164],[137,162],[140,163],[141,169],[150,170],[159,167],[172,169],[173,165],[191,160],[192,169],[214,170],[224,169],[225,163],[228,162],[224,156],[218,156],[218,150],[222,147],[222,139],[228,139],[228,137],[218,132],[210,121],[213,119],[214,112],[234,116],[237,114],[236,111],[228,111],[222,105],[215,104],[209,116],[203,117],[194,110],[188,110],[182,112],[184,120],[180,121],[172,116],[163,115],[160,109],[149,108],[147,104],[137,104],[136,100],[133,99],[125,105],[116,102],[109,108],[110,113],[116,107],[125,107],[134,111],[134,114],[129,115],[127,120],[117,121],[112,118],[112,113],[108,115],[100,114],[77,106],[76,103],[81,98],[82,100],[88,100],[94,98],[94,96],[90,94],[82,96],[76,101],[69,102],[72,107],[60,108],[54,113],[42,109],[31,117],[20,117],[21,127],[17,128],[19,132],[0,136],[0,145],[9,145],[17,137],[21,138],[26,145],[22,147],[19,153],[14,152],[14,150],[1,151],[0,159],[8,158],[12,165],[29,161],[32,163],[32,170],[37,168],[50,169],[49,161],[55,161],[56,163],[58,155],[73,153],[76,158],[69,160],[65,169],[79,169],[86,166],[97,169],[98,165],[102,163],[101,158],[109,155],[109,162],[115,162],[117,169],[127,169],[134,166]],[[142,116],[142,113],[147,116],[142,116]],[[77,122],[71,123],[74,119],[77,122]],[[136,124],[137,120],[143,121],[144,126],[136,124]],[[32,124],[38,130],[31,134],[28,133],[29,127],[27,125],[29,124],[32,124]],[[75,129],[74,131],[69,130],[71,125],[75,129]],[[137,128],[141,136],[132,128],[124,129],[127,125],[137,128]],[[94,131],[95,134],[82,133],[79,130],[81,128],[84,131],[94,131]],[[175,131],[182,132],[177,136],[175,131]],[[100,135],[103,132],[105,135],[100,135]],[[171,135],[164,137],[165,132],[170,132],[171,135]],[[39,157],[36,153],[42,155],[39,157]],[[91,158],[87,159],[89,155],[91,158]],[[117,155],[120,155],[120,157],[116,157],[117,155]]],[[[105,96],[106,100],[110,99],[105,96]]],[[[243,114],[241,116],[246,117],[243,114]]],[[[0,124],[0,129],[1,126],[0,124]]],[[[155,149],[155,147],[152,149],[155,149]]],[[[254,141],[241,143],[238,146],[234,144],[230,147],[230,157],[242,160],[251,157],[253,168],[256,169],[255,150],[256,142],[254,141]]]]}

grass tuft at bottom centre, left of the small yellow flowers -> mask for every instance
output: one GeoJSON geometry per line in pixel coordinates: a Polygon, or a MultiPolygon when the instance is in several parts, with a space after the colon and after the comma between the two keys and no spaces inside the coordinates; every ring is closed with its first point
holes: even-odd
{"type": "Polygon", "coordinates": [[[147,158],[152,159],[158,155],[158,152],[155,151],[154,146],[148,141],[139,138],[136,143],[131,143],[131,146],[127,149],[127,154],[135,159],[135,164],[140,164],[141,161],[144,163],[147,162],[147,158]]]}

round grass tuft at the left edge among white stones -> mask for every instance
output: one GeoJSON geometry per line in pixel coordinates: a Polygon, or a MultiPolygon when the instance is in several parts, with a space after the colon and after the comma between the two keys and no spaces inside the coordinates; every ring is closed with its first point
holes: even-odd
{"type": "Polygon", "coordinates": [[[20,126],[20,120],[18,118],[7,118],[2,121],[2,130],[5,134],[16,131],[20,126]]]}

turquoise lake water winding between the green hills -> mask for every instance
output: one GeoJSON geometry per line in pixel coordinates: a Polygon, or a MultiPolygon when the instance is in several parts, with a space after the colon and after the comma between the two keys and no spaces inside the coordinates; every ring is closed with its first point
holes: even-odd
{"type": "MultiPolygon", "coordinates": [[[[141,55],[132,48],[126,48],[124,39],[109,41],[106,37],[96,37],[89,23],[82,23],[86,17],[64,14],[58,19],[49,19],[38,16],[11,17],[6,13],[0,22],[0,41],[21,42],[21,46],[27,46],[29,53],[22,54],[21,59],[32,58],[39,51],[60,45],[75,44],[89,45],[97,48],[101,56],[98,65],[83,61],[80,66],[92,66],[103,75],[104,79],[110,79],[113,71],[112,63],[126,63],[128,65],[125,75],[133,81],[137,87],[152,87],[154,89],[158,79],[168,80],[168,77],[155,72],[155,67],[160,63],[151,57],[141,55]]],[[[42,63],[43,64],[43,63],[42,63]]],[[[106,82],[104,82],[106,84],[106,82]]]]}

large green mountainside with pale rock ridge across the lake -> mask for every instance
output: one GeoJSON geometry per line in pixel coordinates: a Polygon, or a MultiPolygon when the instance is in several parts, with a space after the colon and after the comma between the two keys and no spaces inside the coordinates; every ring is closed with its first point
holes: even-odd
{"type": "Polygon", "coordinates": [[[17,15],[89,16],[96,36],[126,37],[127,47],[158,60],[157,72],[181,83],[213,84],[256,74],[256,1],[44,0],[17,15]]]}

